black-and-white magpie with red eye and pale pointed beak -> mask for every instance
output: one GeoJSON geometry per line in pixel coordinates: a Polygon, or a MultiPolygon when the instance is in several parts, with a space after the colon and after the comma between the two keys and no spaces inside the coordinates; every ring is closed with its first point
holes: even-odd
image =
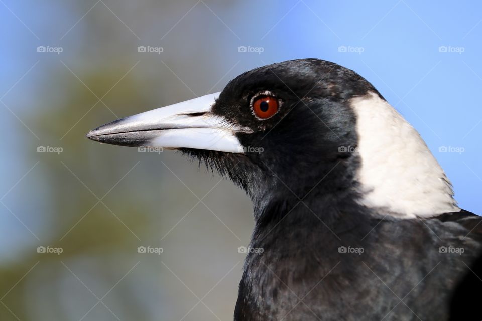
{"type": "Polygon", "coordinates": [[[267,65],[87,138],[180,150],[247,192],[255,227],[235,321],[482,319],[482,219],[352,70],[267,65]]]}

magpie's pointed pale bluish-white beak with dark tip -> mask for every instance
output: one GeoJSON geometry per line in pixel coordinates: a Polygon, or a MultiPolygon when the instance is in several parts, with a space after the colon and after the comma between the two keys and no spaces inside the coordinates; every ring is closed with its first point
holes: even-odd
{"type": "Polygon", "coordinates": [[[230,124],[212,113],[219,92],[112,121],[89,131],[87,138],[121,146],[194,148],[243,153],[230,124]]]}

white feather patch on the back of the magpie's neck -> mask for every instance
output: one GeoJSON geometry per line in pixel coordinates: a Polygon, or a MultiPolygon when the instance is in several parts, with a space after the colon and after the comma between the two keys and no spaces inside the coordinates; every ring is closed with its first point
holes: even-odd
{"type": "Polygon", "coordinates": [[[458,212],[449,180],[419,133],[370,92],[351,100],[356,114],[360,203],[399,218],[458,212]]]}

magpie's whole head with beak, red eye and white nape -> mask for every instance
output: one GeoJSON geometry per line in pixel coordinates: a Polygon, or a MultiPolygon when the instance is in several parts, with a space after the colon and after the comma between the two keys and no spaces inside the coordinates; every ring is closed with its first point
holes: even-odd
{"type": "MultiPolygon", "coordinates": [[[[428,163],[410,175],[436,181],[436,188],[450,196],[441,196],[440,202],[453,204],[448,181],[418,133],[363,77],[318,59],[253,69],[219,93],[115,120],[87,138],[181,150],[227,174],[247,191],[255,208],[273,198],[299,200],[315,187],[324,195],[360,195],[364,206],[393,207],[399,191],[387,190],[384,180],[400,179],[400,188],[413,183],[403,173],[413,154],[428,163]],[[393,149],[395,139],[401,143],[393,149]],[[407,142],[414,150],[396,159],[407,142]],[[387,157],[394,158],[390,166],[387,157]],[[433,174],[423,174],[431,166],[433,174]]],[[[413,203],[412,196],[405,197],[413,203]]],[[[414,206],[393,210],[406,216],[429,210],[414,206]]]]}

